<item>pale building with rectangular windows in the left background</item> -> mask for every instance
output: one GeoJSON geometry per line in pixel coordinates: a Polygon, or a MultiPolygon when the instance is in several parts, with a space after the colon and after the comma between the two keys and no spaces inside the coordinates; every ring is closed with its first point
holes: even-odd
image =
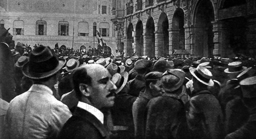
{"type": "Polygon", "coordinates": [[[58,43],[88,50],[89,46],[97,48],[96,28],[115,53],[110,0],[1,0],[0,6],[0,24],[10,28],[15,43],[51,48],[58,43]]]}

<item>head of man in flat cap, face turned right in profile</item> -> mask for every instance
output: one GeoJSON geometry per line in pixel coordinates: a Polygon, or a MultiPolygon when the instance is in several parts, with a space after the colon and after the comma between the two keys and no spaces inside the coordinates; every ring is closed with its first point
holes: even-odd
{"type": "Polygon", "coordinates": [[[145,76],[146,88],[150,88],[152,96],[160,96],[164,93],[163,84],[161,82],[162,72],[153,71],[145,76]]]}

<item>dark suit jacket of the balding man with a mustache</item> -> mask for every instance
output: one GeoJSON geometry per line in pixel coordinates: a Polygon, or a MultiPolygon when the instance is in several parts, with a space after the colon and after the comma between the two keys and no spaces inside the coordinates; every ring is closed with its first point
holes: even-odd
{"type": "Polygon", "coordinates": [[[109,131],[90,112],[76,107],[61,129],[59,139],[107,139],[109,131]]]}

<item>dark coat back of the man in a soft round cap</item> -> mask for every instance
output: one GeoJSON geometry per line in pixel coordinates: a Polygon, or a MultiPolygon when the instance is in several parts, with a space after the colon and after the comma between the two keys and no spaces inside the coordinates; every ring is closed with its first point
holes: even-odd
{"type": "Polygon", "coordinates": [[[186,112],[177,95],[163,94],[148,102],[145,139],[187,139],[187,135],[186,112]]]}

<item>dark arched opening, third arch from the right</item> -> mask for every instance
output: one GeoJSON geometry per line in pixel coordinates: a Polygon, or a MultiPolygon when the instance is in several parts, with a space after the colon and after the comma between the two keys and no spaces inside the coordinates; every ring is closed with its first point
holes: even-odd
{"type": "Polygon", "coordinates": [[[172,18],[172,49],[185,50],[184,11],[177,9],[172,18]]]}

